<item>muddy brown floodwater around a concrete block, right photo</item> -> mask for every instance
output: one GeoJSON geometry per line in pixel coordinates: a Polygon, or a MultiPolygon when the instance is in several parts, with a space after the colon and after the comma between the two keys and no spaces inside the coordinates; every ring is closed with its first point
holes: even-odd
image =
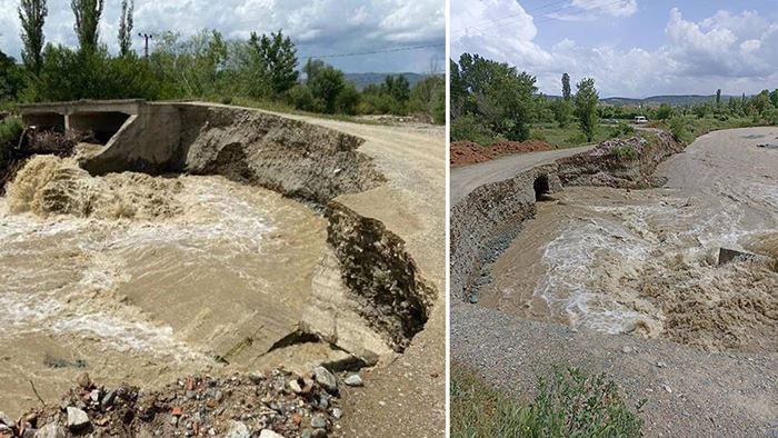
{"type": "Polygon", "coordinates": [[[776,128],[714,132],[661,188],[566,188],[498,260],[486,306],[707,350],[778,351],[776,128]],[[718,266],[719,248],[766,256],[718,266]],[[772,259],[771,259],[772,258],[772,259]]]}

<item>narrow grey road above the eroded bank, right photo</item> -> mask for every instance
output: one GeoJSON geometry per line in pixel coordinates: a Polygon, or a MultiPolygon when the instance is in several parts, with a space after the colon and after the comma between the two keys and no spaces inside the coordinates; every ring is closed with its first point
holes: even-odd
{"type": "Polygon", "coordinates": [[[451,205],[456,205],[472,190],[490,182],[502,181],[537,166],[547,165],[563,157],[575,156],[594,146],[516,153],[497,160],[451,169],[451,205]]]}

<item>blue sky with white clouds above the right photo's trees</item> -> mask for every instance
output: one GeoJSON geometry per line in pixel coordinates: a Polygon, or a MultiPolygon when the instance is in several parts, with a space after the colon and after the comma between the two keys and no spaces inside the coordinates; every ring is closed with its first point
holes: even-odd
{"type": "Polygon", "coordinates": [[[776,0],[451,0],[451,56],[480,53],[538,77],[594,77],[600,97],[778,88],[776,0]]]}

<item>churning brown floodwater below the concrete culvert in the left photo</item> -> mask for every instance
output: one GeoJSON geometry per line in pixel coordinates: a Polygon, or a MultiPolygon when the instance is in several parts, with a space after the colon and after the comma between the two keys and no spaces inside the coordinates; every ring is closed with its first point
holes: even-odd
{"type": "Polygon", "coordinates": [[[0,198],[0,410],[37,404],[30,382],[57,400],[82,371],[153,387],[217,356],[260,366],[325,245],[311,208],[222,177],[31,160],[0,198]]]}

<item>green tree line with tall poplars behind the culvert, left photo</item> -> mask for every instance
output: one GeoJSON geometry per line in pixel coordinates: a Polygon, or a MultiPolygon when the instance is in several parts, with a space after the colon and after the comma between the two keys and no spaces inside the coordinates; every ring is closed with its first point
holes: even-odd
{"type": "Polygon", "coordinates": [[[78,99],[205,99],[282,102],[325,113],[406,116],[445,122],[446,84],[430,74],[410,87],[402,76],[358,91],[346,74],[318,59],[300,70],[297,48],[281,30],[246,40],[202,30],[191,37],[164,32],[148,58],[132,50],[133,0],[122,0],[111,54],[101,43],[104,0],[71,0],[78,47],[47,43],[46,0],[20,0],[21,63],[0,50],[0,102],[78,99]]]}

